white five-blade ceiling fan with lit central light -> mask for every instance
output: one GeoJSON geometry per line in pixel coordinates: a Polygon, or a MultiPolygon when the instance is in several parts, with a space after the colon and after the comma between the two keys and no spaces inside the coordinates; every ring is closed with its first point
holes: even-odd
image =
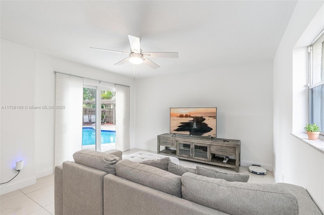
{"type": "Polygon", "coordinates": [[[129,55],[129,57],[115,63],[114,65],[121,65],[129,61],[132,64],[144,63],[153,69],[157,69],[159,68],[159,66],[153,63],[152,61],[148,60],[147,58],[178,58],[178,52],[142,52],[142,49],[140,48],[141,39],[139,37],[128,35],[128,39],[130,40],[130,44],[131,44],[130,53],[124,51],[109,50],[104,48],[95,48],[95,47],[90,47],[90,48],[129,55]]]}

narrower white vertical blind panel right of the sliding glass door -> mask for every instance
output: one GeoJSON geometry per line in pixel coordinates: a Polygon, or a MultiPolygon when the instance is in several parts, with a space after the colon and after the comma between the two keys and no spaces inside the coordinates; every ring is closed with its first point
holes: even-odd
{"type": "Polygon", "coordinates": [[[130,87],[116,84],[116,149],[130,149],[130,87]]]}

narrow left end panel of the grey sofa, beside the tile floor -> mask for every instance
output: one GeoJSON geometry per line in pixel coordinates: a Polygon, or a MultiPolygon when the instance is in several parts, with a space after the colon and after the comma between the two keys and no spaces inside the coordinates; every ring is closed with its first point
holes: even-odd
{"type": "Polygon", "coordinates": [[[54,170],[54,205],[55,214],[63,214],[63,175],[62,165],[56,166],[54,170]]]}

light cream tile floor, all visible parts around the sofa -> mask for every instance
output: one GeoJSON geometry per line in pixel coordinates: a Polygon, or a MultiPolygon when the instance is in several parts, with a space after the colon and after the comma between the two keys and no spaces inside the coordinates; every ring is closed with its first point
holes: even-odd
{"type": "MultiPolygon", "coordinates": [[[[136,151],[148,151],[143,149],[131,149],[123,152],[123,155],[135,153],[136,151]]],[[[154,151],[148,151],[153,152],[154,151]]],[[[207,164],[180,160],[180,165],[195,168],[197,165],[208,167],[226,173],[236,173],[234,169],[222,168],[207,164]]],[[[239,173],[249,174],[248,183],[275,183],[271,171],[264,176],[252,174],[247,167],[240,167],[239,173]]],[[[48,215],[54,214],[54,174],[38,178],[36,184],[6,193],[0,196],[0,214],[32,214],[48,215]]]]}

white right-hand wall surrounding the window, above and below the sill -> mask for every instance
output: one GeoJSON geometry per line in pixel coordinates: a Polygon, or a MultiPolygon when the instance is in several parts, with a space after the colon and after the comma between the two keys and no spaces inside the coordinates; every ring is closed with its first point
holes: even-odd
{"type": "MultiPolygon", "coordinates": [[[[324,154],[291,135],[300,132],[297,126],[307,121],[307,100],[303,81],[307,57],[301,39],[312,39],[324,28],[322,1],[300,1],[281,39],[273,62],[273,153],[276,182],[305,187],[319,208],[324,211],[324,154]],[[320,11],[319,11],[320,9],[320,11]],[[319,14],[316,13],[319,11],[319,14]],[[316,15],[316,16],[315,16],[316,15]],[[317,24],[311,23],[316,17],[317,24]],[[313,26],[309,30],[307,26],[313,26]],[[304,31],[308,29],[305,34],[304,31]],[[314,30],[314,28],[316,30],[314,30]],[[297,45],[297,43],[299,45],[297,45]],[[293,61],[293,57],[295,58],[293,61]]],[[[304,46],[308,45],[304,43],[304,46]]],[[[306,82],[304,82],[306,84],[306,82]]]]}

